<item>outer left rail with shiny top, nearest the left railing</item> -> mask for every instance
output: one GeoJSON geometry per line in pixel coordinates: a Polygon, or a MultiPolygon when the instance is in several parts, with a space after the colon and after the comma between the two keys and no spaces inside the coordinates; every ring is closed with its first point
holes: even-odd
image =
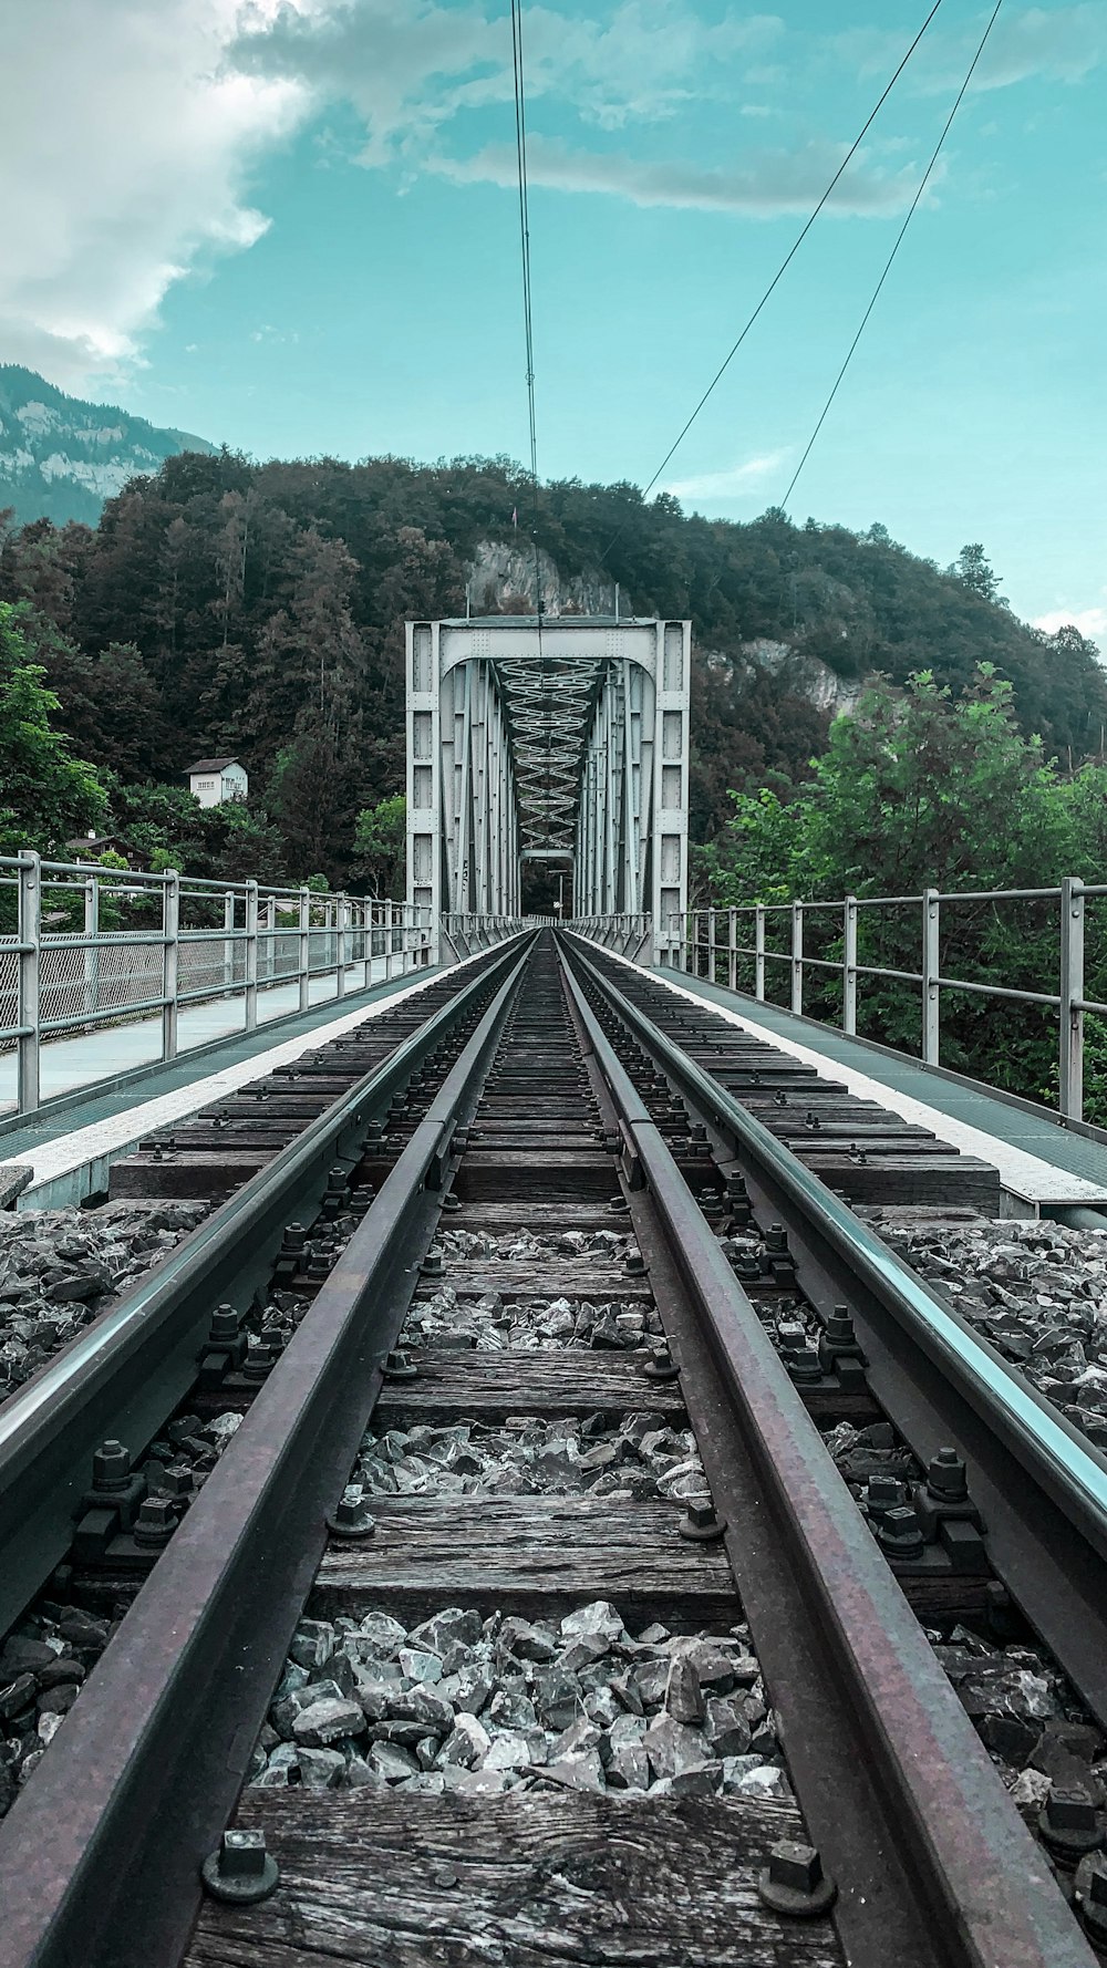
{"type": "Polygon", "coordinates": [[[516,956],[518,941],[467,978],[380,1067],[309,1122],[0,1407],[0,1631],[65,1557],[98,1445],[114,1435],[144,1448],[154,1439],[195,1382],[213,1307],[250,1303],[290,1218],[315,1206],[335,1163],[357,1159],[372,1112],[516,956]]]}

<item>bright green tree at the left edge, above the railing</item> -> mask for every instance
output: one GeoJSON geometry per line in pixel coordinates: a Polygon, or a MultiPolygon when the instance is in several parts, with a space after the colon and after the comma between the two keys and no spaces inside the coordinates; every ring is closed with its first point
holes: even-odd
{"type": "Polygon", "coordinates": [[[0,852],[63,856],[73,834],[100,821],[106,799],[93,766],[51,728],[57,697],[43,685],[20,624],[0,602],[0,852]]]}

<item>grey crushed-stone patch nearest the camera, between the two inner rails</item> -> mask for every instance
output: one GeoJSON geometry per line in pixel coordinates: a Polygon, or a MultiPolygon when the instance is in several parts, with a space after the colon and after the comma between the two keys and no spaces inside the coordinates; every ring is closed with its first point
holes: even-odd
{"type": "Polygon", "coordinates": [[[749,1630],[630,1635],[607,1600],[534,1622],[303,1620],[250,1781],[792,1797],[749,1630]]]}

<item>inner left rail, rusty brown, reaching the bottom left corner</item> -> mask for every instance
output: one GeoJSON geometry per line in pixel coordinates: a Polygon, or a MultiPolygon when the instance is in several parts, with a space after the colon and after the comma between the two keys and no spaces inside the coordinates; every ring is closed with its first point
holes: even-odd
{"type": "Polygon", "coordinates": [[[528,954],[0,1824],[4,1968],[177,1962],[528,954]]]}

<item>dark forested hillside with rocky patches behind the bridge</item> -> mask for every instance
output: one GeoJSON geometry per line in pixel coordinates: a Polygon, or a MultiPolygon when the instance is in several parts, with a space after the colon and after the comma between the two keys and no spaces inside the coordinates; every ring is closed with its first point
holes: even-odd
{"type": "MultiPolygon", "coordinates": [[[[10,522],[0,600],[22,604],[53,722],[108,775],[116,827],[150,815],[154,795],[128,787],[179,787],[193,756],[234,754],[266,860],[351,880],[358,811],[404,785],[404,618],[463,612],[467,588],[475,612],[530,608],[530,527],[528,480],[506,461],[181,455],[124,486],[95,529],[10,522]]],[[[536,529],[550,610],[607,610],[619,581],[624,612],[691,616],[699,840],[723,827],[729,789],[800,777],[829,708],[873,673],[959,689],[991,661],[1062,768],[1103,748],[1093,646],[1014,620],[979,549],[942,573],[879,525],[709,522],[575,480],[540,490],[536,529]]]]}

